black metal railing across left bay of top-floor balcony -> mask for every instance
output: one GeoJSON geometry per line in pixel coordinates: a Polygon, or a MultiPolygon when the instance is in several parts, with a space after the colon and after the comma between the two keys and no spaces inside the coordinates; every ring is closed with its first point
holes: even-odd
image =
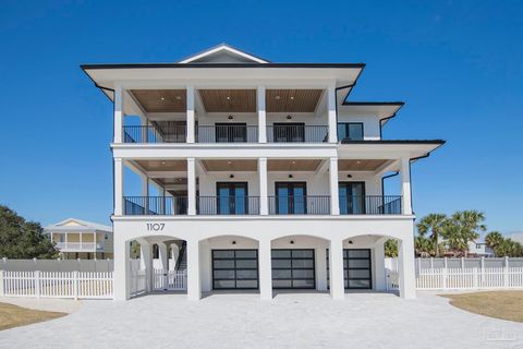
{"type": "Polygon", "coordinates": [[[185,125],[123,127],[123,143],[185,143],[185,125]]]}

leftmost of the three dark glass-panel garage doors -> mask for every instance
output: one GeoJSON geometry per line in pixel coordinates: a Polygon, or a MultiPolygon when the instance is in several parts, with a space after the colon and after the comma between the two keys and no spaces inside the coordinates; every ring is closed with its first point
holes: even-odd
{"type": "Polygon", "coordinates": [[[257,289],[257,250],[212,250],[212,289],[257,289]]]}

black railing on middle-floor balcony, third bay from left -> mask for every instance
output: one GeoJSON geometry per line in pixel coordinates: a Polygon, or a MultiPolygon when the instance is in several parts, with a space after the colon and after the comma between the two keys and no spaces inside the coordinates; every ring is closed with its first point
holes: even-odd
{"type": "Polygon", "coordinates": [[[330,215],[329,195],[269,196],[269,215],[330,215]]]}

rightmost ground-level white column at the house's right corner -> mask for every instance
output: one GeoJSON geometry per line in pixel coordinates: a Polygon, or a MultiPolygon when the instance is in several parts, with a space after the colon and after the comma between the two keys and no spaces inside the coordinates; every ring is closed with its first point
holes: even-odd
{"type": "Polygon", "coordinates": [[[400,297],[405,299],[416,298],[416,273],[414,266],[414,237],[408,236],[398,241],[400,297]]]}

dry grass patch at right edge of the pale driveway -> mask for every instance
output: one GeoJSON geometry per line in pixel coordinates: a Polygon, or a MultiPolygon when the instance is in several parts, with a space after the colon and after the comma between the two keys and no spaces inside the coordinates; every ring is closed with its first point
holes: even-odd
{"type": "Polygon", "coordinates": [[[440,294],[471,313],[523,323],[523,291],[440,294]]]}

